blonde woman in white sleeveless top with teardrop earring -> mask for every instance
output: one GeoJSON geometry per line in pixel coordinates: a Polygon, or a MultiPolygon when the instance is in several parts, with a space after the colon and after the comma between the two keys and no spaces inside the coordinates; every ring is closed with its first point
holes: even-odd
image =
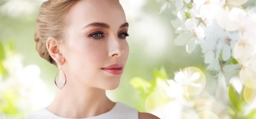
{"type": "Polygon", "coordinates": [[[36,20],[36,50],[60,69],[58,90],[49,106],[24,119],[159,119],[105,94],[119,86],[127,32],[118,0],[45,1],[36,20]]]}

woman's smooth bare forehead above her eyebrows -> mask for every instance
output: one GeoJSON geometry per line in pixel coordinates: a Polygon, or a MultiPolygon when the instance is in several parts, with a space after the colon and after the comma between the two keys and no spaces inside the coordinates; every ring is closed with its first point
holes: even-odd
{"type": "Polygon", "coordinates": [[[119,28],[126,22],[125,12],[117,0],[80,0],[69,12],[70,24],[78,28],[92,22],[104,22],[119,28]]]}

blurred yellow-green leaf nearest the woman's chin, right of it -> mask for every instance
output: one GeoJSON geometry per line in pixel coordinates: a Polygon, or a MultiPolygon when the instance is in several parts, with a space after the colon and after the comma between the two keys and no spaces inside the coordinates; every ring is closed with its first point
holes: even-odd
{"type": "Polygon", "coordinates": [[[140,90],[144,92],[145,94],[151,93],[151,83],[149,83],[147,80],[144,80],[141,77],[134,77],[130,80],[131,86],[133,86],[135,89],[140,90]]]}

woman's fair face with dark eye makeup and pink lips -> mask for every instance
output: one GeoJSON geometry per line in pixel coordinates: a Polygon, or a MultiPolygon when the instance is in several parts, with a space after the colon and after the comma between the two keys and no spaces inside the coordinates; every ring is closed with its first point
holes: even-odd
{"type": "Polygon", "coordinates": [[[68,14],[63,53],[67,83],[112,90],[129,54],[128,23],[117,0],[80,0],[68,14]],[[118,64],[113,67],[107,67],[118,64]]]}

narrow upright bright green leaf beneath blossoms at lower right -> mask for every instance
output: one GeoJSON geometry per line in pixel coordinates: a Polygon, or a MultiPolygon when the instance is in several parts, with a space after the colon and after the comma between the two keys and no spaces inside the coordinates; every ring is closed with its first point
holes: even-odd
{"type": "Polygon", "coordinates": [[[241,111],[240,102],[239,102],[239,93],[233,88],[233,86],[229,85],[229,92],[228,92],[230,101],[232,102],[233,107],[236,111],[241,111]]]}

